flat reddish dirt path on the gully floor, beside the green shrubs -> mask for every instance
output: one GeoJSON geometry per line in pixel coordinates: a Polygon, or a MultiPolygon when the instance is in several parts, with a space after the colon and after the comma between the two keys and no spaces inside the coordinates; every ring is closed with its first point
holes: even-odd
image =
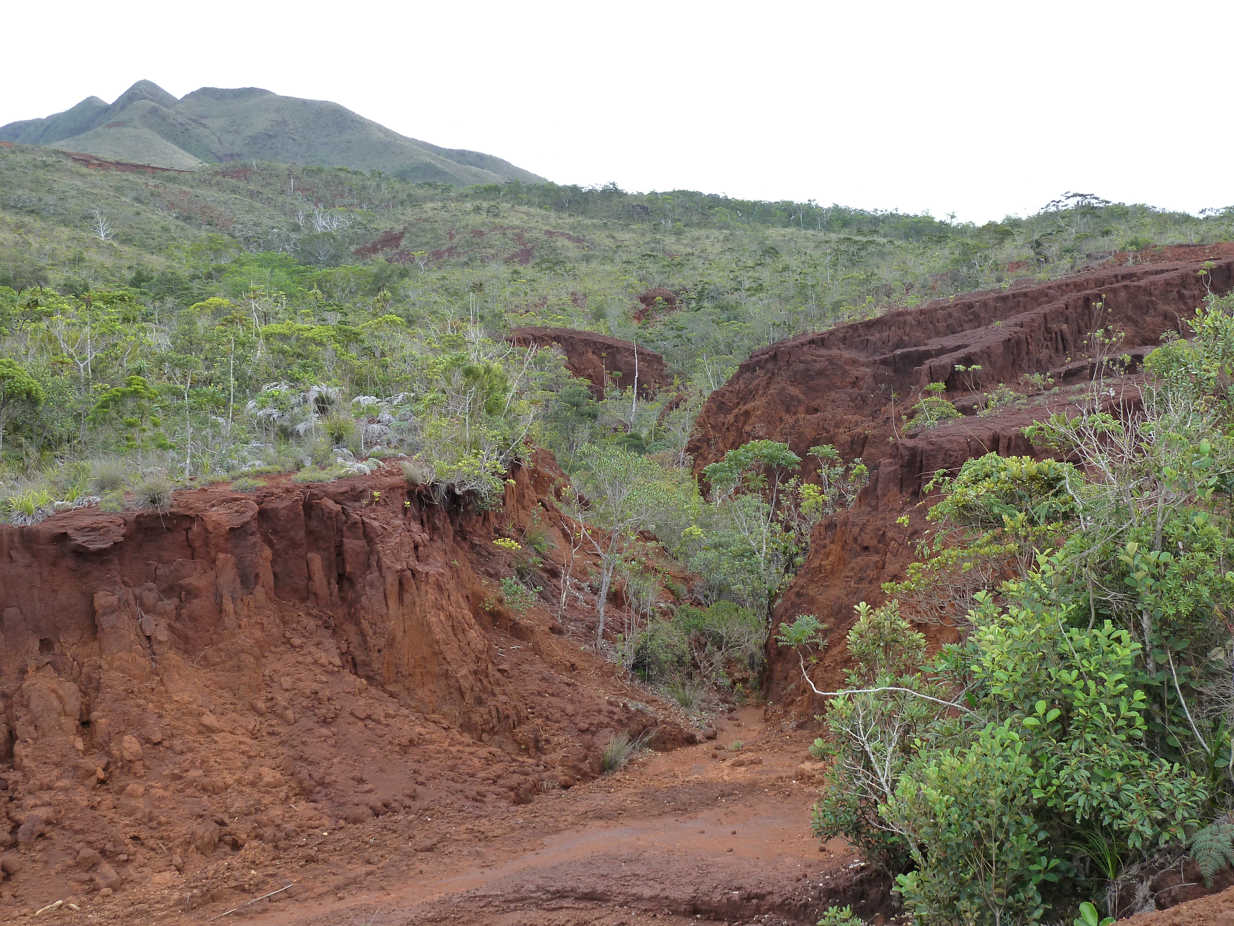
{"type": "MultiPolygon", "coordinates": [[[[331,884],[297,884],[295,898],[225,919],[253,926],[787,926],[851,903],[885,922],[887,883],[843,842],[819,851],[810,833],[810,737],[765,722],[752,707],[718,727],[713,743],[643,753],[615,775],[526,806],[407,814],[376,836],[365,827],[355,837],[373,864],[338,866],[331,884]],[[734,740],[743,748],[723,748],[734,740]]],[[[210,904],[189,916],[209,920],[226,909],[210,904]]]]}

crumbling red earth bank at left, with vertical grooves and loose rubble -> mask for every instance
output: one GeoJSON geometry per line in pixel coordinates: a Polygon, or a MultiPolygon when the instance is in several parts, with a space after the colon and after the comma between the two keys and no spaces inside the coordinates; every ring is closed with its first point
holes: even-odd
{"type": "Polygon", "coordinates": [[[310,837],[527,803],[597,774],[616,731],[692,742],[613,696],[612,667],[570,640],[578,604],[558,625],[494,603],[497,536],[547,527],[548,594],[560,575],[560,470],[534,463],[499,512],[437,504],[391,465],[0,527],[0,915],[130,886],[188,909],[292,868],[325,890],[322,866],[359,849],[318,857],[310,837]]]}

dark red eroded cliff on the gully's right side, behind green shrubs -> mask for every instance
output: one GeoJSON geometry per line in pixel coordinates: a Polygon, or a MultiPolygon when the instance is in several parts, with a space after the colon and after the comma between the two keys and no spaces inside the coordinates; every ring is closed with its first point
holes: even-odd
{"type": "MultiPolygon", "coordinates": [[[[830,443],[872,470],[853,509],[816,528],[808,558],[774,615],[779,622],[816,614],[830,626],[832,646],[816,682],[843,680],[853,606],[881,603],[882,583],[902,578],[916,558],[912,544],[924,527],[916,505],[929,475],[988,452],[1041,457],[1023,428],[1049,414],[1048,405],[1066,401],[1056,395],[1028,410],[906,433],[903,415],[922,386],[946,383],[948,398],[964,409],[967,396],[971,411],[971,393],[1019,385],[1028,373],[1050,373],[1060,385],[1083,383],[1092,375],[1088,332],[1097,328],[1122,332],[1112,353],[1129,354],[1134,367],[1164,331],[1180,330],[1208,288],[1234,288],[1230,258],[1217,259],[1207,275],[1203,269],[1201,263],[1111,268],[802,335],[756,351],[711,395],[689,447],[696,472],[755,438],[784,441],[802,456],[830,443]],[[981,370],[965,374],[958,365],[981,370]],[[906,514],[911,521],[902,527],[896,519],[906,514]]],[[[938,642],[949,631],[927,632],[938,642]]],[[[769,657],[771,695],[796,690],[796,662],[774,649],[769,657]]],[[[798,707],[812,712],[807,703],[798,707]]]]}

